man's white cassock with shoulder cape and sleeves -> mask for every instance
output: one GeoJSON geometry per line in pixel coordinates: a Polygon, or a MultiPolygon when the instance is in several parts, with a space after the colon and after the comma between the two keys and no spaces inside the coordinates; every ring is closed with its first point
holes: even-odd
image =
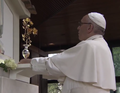
{"type": "Polygon", "coordinates": [[[38,74],[64,80],[62,93],[116,90],[111,51],[101,35],[94,35],[51,58],[33,58],[31,64],[38,74]]]}

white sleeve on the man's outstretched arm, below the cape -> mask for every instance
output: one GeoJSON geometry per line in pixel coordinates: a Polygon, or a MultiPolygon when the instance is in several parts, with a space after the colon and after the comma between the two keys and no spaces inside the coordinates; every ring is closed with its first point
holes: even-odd
{"type": "Polygon", "coordinates": [[[63,77],[64,74],[52,63],[48,57],[37,57],[31,60],[32,69],[38,74],[63,77]]]}

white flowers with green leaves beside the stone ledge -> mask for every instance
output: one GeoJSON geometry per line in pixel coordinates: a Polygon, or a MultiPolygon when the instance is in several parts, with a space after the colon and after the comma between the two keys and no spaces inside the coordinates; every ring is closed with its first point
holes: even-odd
{"type": "Polygon", "coordinates": [[[0,59],[0,67],[3,68],[5,72],[8,72],[10,70],[14,70],[17,68],[17,64],[13,59],[0,59]]]}

